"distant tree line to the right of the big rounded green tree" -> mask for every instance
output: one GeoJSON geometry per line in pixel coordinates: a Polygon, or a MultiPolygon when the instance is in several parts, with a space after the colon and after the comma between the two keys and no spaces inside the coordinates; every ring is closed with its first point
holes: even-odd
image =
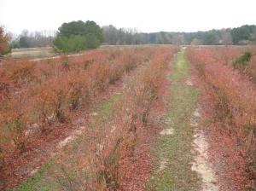
{"type": "Polygon", "coordinates": [[[104,43],[108,44],[248,44],[256,43],[256,26],[240,26],[207,32],[137,32],[102,26],[104,43]]]}

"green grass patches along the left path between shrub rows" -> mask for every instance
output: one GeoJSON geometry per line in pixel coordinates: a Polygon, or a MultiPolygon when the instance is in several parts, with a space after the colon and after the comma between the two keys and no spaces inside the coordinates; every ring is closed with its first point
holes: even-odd
{"type": "MultiPolygon", "coordinates": [[[[121,95],[114,94],[108,101],[104,101],[96,106],[97,115],[94,116],[96,122],[94,124],[87,123],[86,127],[93,128],[96,124],[102,124],[104,119],[108,119],[108,115],[113,112],[111,108],[113,104],[120,99],[121,95]]],[[[73,153],[77,152],[79,145],[82,142],[82,137],[78,136],[73,142],[70,142],[65,148],[64,152],[68,153],[68,159],[70,163],[73,163],[73,153]],[[69,158],[70,157],[70,158],[69,158]]],[[[21,183],[18,188],[14,188],[13,191],[49,191],[60,190],[60,185],[56,180],[52,180],[51,172],[55,171],[55,168],[59,168],[60,164],[57,164],[56,159],[58,156],[52,157],[44,165],[40,167],[37,173],[32,177],[29,177],[25,182],[21,183]]]]}

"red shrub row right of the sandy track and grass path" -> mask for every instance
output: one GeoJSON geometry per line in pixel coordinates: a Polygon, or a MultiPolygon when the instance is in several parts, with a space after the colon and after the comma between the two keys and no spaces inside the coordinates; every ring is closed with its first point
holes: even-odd
{"type": "Polygon", "coordinates": [[[220,56],[217,58],[212,49],[189,48],[187,57],[203,82],[202,95],[207,101],[205,110],[209,118],[213,119],[216,126],[221,123],[222,128],[218,129],[222,132],[221,138],[229,140],[226,143],[230,142],[230,150],[234,147],[239,150],[239,154],[247,161],[244,173],[253,178],[246,171],[250,169],[250,173],[255,176],[255,169],[252,168],[256,161],[255,86],[245,75],[227,64],[226,59],[220,56]]]}

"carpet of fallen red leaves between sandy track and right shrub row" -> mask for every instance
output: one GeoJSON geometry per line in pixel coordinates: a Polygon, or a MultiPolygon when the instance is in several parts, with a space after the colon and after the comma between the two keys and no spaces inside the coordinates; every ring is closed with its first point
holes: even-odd
{"type": "Polygon", "coordinates": [[[253,190],[253,183],[250,175],[248,175],[246,160],[237,149],[237,144],[230,139],[229,132],[224,130],[223,124],[218,122],[208,123],[209,119],[212,119],[212,108],[211,101],[208,100],[209,97],[204,92],[206,84],[201,81],[201,78],[197,77],[194,67],[192,67],[191,72],[191,78],[193,78],[195,86],[201,87],[202,95],[198,100],[203,111],[201,118],[205,121],[204,136],[207,138],[208,158],[217,174],[219,190],[253,190]]]}

